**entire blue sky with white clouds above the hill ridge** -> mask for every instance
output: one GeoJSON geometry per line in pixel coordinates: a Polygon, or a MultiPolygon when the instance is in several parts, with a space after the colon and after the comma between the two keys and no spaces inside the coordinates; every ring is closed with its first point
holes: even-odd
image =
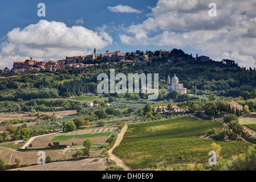
{"type": "Polygon", "coordinates": [[[0,69],[106,50],[182,49],[256,67],[256,1],[0,0],[0,69]],[[39,3],[46,16],[38,16],[39,3]]]}

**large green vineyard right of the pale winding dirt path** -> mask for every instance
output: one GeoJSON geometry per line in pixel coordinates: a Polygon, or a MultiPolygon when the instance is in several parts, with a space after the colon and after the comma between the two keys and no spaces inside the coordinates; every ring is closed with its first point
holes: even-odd
{"type": "Polygon", "coordinates": [[[224,159],[247,151],[249,143],[220,142],[198,137],[214,127],[222,127],[222,122],[191,117],[129,125],[124,139],[113,152],[132,169],[143,169],[155,162],[159,166],[208,163],[212,142],[221,145],[221,156],[224,159]]]}

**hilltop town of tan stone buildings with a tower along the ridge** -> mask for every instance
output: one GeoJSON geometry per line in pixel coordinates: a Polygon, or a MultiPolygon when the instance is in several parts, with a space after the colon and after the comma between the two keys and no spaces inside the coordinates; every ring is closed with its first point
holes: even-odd
{"type": "MultiPolygon", "coordinates": [[[[172,53],[172,51],[160,51],[161,53],[172,53]]],[[[91,60],[100,60],[104,63],[100,63],[100,65],[108,65],[109,61],[113,61],[114,64],[116,62],[120,63],[129,63],[129,64],[146,64],[149,62],[149,57],[147,53],[137,52],[135,55],[138,60],[128,60],[129,56],[131,56],[133,52],[123,53],[121,51],[109,52],[108,50],[104,54],[99,54],[96,52],[96,48],[94,49],[94,53],[90,55],[84,56],[71,56],[62,60],[50,60],[50,61],[36,61],[33,60],[32,57],[25,61],[15,61],[13,63],[13,68],[11,71],[9,69],[5,69],[4,72],[15,72],[15,73],[26,73],[26,72],[61,72],[62,69],[66,69],[67,67],[74,68],[86,68],[93,65],[99,65],[97,63],[90,64],[91,60]]],[[[181,58],[180,58],[181,59],[181,58]]],[[[196,60],[209,61],[210,58],[208,56],[196,56],[196,60]]],[[[168,60],[168,63],[172,62],[172,60],[168,60]]]]}

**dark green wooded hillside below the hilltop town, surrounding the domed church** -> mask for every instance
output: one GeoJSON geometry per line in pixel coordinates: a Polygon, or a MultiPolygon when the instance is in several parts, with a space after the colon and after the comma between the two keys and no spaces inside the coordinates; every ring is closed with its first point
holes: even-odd
{"type": "MultiPolygon", "coordinates": [[[[109,62],[108,65],[94,65],[87,68],[68,67],[68,74],[62,73],[26,73],[3,75],[0,78],[0,101],[30,100],[31,98],[58,98],[80,96],[82,93],[94,93],[97,86],[97,75],[115,69],[115,73],[159,73],[159,78],[167,80],[174,74],[189,89],[196,88],[197,95],[216,94],[224,97],[238,97],[245,92],[252,92],[256,86],[255,69],[240,68],[234,61],[201,61],[196,60],[183,51],[172,53],[148,53],[149,63],[129,64],[109,62]]],[[[138,60],[135,57],[127,57],[138,60]]],[[[89,63],[104,63],[100,60],[85,61],[89,63]]],[[[166,82],[160,83],[160,88],[166,89],[166,82]]],[[[116,96],[116,94],[112,94],[116,96]]],[[[142,95],[140,95],[143,97],[142,95]]]]}

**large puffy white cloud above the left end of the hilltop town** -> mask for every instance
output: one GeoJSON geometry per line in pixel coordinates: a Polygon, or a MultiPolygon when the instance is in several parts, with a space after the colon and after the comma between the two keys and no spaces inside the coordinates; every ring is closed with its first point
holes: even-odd
{"type": "Polygon", "coordinates": [[[1,44],[0,67],[32,56],[35,60],[58,60],[65,56],[85,55],[101,49],[113,40],[104,30],[94,32],[82,26],[67,27],[63,22],[40,20],[23,28],[14,28],[1,44]]]}

